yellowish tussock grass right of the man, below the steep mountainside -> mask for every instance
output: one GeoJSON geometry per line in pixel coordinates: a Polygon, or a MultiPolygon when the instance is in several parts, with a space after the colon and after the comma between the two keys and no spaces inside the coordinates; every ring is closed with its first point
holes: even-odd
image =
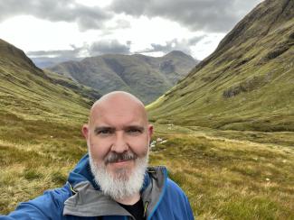
{"type": "Polygon", "coordinates": [[[293,219],[294,149],[161,134],[151,153],[184,188],[197,219],[293,219]]]}

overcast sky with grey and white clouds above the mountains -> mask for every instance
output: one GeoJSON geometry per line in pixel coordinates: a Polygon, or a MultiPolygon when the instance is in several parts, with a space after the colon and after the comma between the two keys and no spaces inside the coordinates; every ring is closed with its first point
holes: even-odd
{"type": "Polygon", "coordinates": [[[262,0],[0,0],[0,38],[30,57],[105,53],[197,60],[262,0]]]}

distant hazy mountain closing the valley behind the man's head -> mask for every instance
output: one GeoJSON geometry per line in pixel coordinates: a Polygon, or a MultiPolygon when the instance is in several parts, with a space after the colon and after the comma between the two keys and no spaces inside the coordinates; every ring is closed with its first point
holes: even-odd
{"type": "Polygon", "coordinates": [[[160,58],[140,54],[107,54],[67,61],[50,68],[102,94],[125,90],[150,103],[184,78],[196,61],[182,51],[172,51],[160,58]]]}

